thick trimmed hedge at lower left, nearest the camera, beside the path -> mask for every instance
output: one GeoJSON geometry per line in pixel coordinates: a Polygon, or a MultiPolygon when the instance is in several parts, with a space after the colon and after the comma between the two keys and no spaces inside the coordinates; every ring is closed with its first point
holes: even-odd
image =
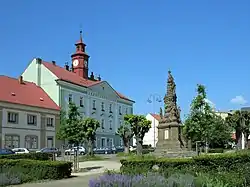
{"type": "Polygon", "coordinates": [[[0,173],[14,176],[20,183],[70,177],[71,162],[28,159],[0,159],[0,173]]]}

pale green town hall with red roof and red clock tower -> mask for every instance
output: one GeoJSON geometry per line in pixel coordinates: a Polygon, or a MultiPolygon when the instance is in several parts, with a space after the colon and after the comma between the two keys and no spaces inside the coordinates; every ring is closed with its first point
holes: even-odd
{"type": "Polygon", "coordinates": [[[63,110],[67,110],[69,102],[74,102],[83,117],[97,119],[101,127],[97,130],[96,147],[122,145],[116,132],[123,124],[124,115],[133,113],[135,102],[117,92],[100,76],[96,78],[93,72],[89,76],[89,55],[81,33],[75,46],[71,67],[35,58],[22,77],[40,86],[63,110]]]}

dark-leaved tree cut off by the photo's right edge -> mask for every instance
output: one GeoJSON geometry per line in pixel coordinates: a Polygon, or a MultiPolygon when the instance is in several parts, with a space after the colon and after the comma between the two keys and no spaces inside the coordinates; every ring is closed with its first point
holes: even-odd
{"type": "Polygon", "coordinates": [[[237,110],[226,117],[226,123],[235,131],[237,148],[241,148],[242,134],[244,135],[244,148],[247,146],[250,135],[250,112],[237,110]]]}

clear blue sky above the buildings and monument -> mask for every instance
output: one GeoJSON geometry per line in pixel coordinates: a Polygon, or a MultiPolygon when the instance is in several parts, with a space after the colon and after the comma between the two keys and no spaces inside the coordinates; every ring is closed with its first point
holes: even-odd
{"type": "Polygon", "coordinates": [[[147,99],[164,96],[169,69],[182,116],[197,83],[218,110],[236,109],[250,100],[249,10],[249,0],[3,1],[0,74],[19,76],[33,57],[71,62],[82,25],[90,71],[136,113],[159,111],[147,99]]]}

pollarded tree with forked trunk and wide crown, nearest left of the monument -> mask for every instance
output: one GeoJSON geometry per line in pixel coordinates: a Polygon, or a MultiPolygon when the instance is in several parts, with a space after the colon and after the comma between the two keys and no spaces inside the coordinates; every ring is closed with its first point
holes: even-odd
{"type": "Polygon", "coordinates": [[[137,154],[142,154],[142,144],[145,134],[151,128],[151,121],[143,115],[125,115],[124,120],[131,126],[131,130],[136,139],[137,154]]]}

